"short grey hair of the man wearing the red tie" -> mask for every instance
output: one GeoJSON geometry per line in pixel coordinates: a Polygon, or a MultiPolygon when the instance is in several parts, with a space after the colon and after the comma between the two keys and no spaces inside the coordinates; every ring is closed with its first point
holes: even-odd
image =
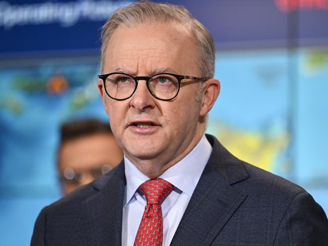
{"type": "Polygon", "coordinates": [[[119,8],[106,21],[101,31],[101,71],[104,53],[114,31],[120,25],[145,24],[153,22],[177,22],[190,28],[199,46],[199,71],[202,77],[214,76],[215,48],[209,31],[183,6],[168,3],[140,1],[119,8]]]}

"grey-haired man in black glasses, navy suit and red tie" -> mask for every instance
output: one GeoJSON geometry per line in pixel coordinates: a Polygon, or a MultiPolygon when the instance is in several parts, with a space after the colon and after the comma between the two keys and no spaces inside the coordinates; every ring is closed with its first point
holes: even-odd
{"type": "Polygon", "coordinates": [[[113,13],[98,88],[124,159],[44,208],[32,245],[326,245],[309,194],[204,136],[213,70],[212,38],[185,8],[113,13]]]}

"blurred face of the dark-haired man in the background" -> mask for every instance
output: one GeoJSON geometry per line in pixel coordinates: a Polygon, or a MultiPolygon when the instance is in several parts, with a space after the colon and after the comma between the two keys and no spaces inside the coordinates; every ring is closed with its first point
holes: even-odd
{"type": "Polygon", "coordinates": [[[122,158],[122,150],[111,134],[93,134],[64,142],[58,157],[64,194],[91,182],[122,158]]]}

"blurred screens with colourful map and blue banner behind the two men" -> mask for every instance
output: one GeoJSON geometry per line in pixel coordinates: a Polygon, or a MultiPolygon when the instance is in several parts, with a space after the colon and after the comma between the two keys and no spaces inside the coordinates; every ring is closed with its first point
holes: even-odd
{"type": "MultiPolygon", "coordinates": [[[[0,0],[1,245],[29,245],[41,208],[62,196],[60,125],[108,121],[96,89],[100,28],[131,2],[0,0]]],[[[168,2],[214,38],[222,90],[207,132],[327,213],[328,1],[168,2]]]]}

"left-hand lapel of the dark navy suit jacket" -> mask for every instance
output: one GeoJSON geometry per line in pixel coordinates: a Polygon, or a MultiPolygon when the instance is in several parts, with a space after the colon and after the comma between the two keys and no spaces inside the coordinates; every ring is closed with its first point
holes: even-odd
{"type": "Polygon", "coordinates": [[[93,184],[99,190],[83,204],[89,245],[121,245],[124,163],[93,184]]]}

